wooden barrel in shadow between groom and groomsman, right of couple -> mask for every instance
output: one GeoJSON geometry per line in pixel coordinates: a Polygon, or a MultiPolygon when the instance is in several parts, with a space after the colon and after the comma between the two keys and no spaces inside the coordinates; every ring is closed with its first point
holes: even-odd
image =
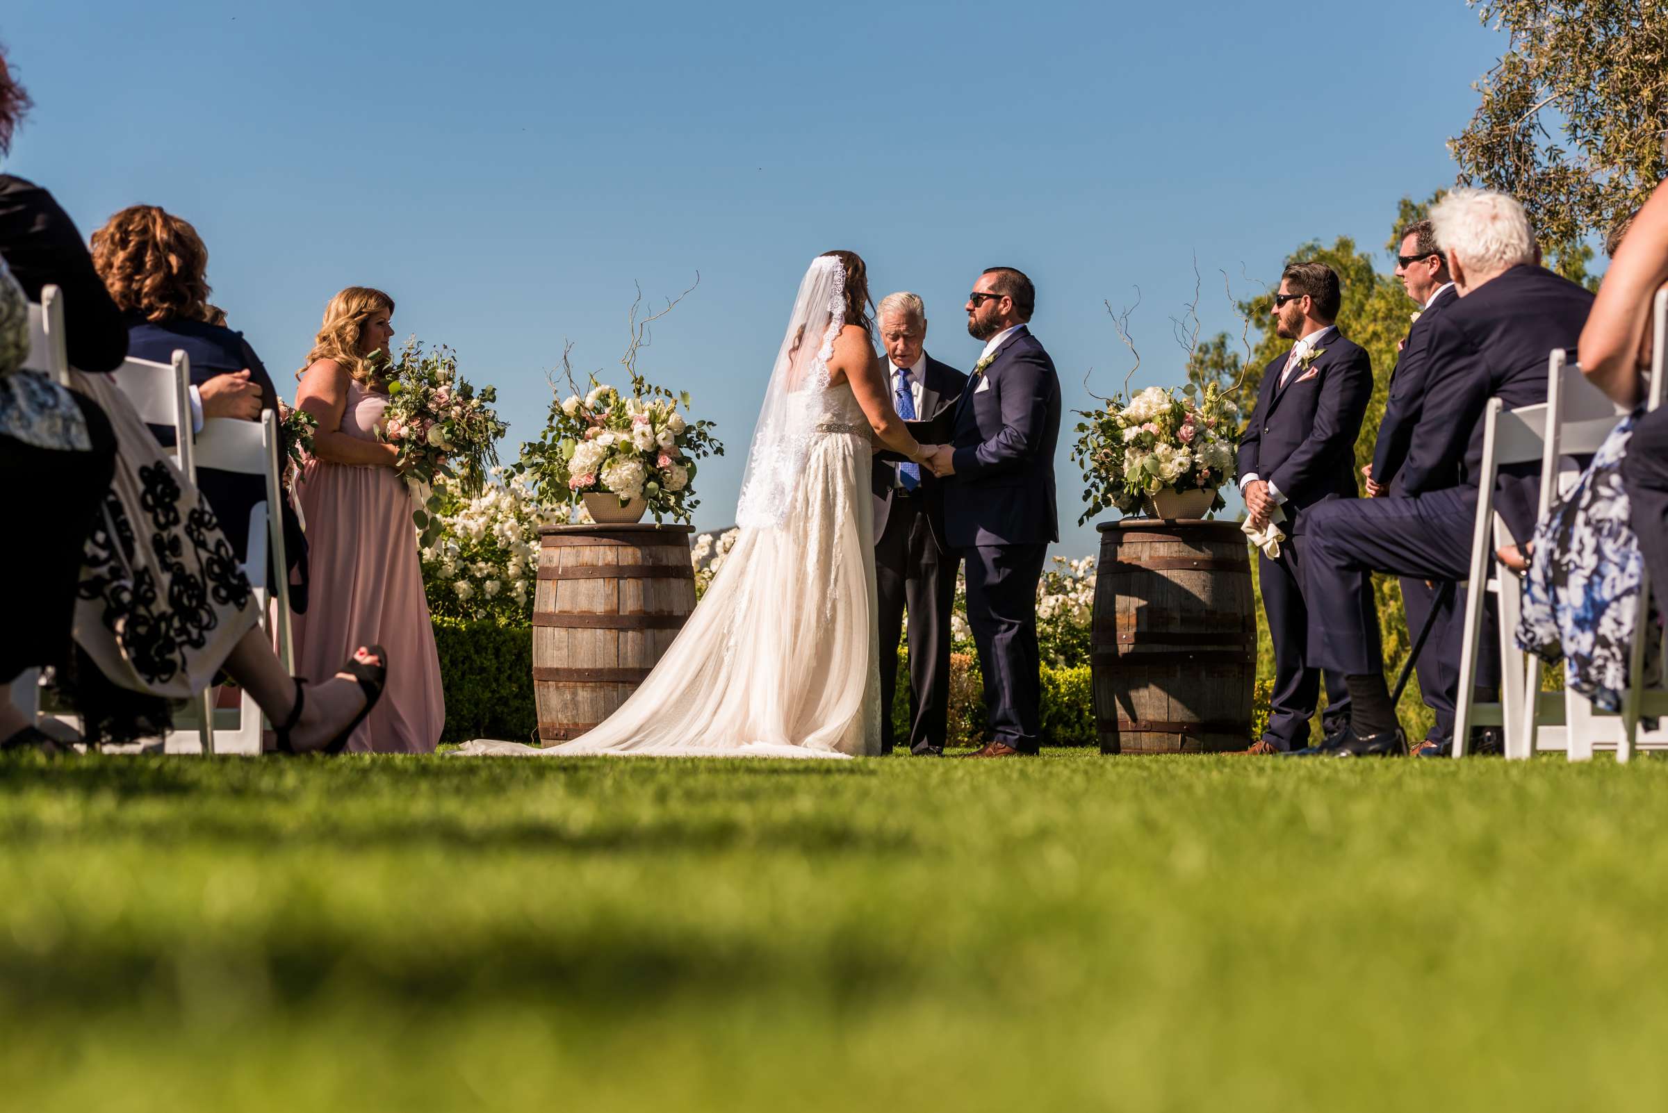
{"type": "Polygon", "coordinates": [[[1256,616],[1236,522],[1101,527],[1089,668],[1101,753],[1214,753],[1251,740],[1256,616]]]}

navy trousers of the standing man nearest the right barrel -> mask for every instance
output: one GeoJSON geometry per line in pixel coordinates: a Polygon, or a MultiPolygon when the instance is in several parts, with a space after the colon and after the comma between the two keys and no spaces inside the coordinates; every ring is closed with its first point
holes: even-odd
{"type": "MultiPolygon", "coordinates": [[[[1304,512],[1304,518],[1314,513],[1304,512]]],[[[1268,635],[1274,641],[1274,691],[1269,696],[1268,730],[1263,738],[1281,750],[1301,750],[1309,745],[1309,720],[1321,698],[1321,673],[1308,663],[1309,606],[1304,591],[1304,565],[1308,538],[1288,538],[1279,547],[1279,556],[1269,560],[1258,555],[1258,585],[1263,588],[1263,615],[1268,618],[1268,635]]],[[[1376,621],[1376,616],[1374,616],[1376,621]]],[[[1349,690],[1343,673],[1326,673],[1326,713],[1321,726],[1326,733],[1349,721],[1349,690]]]]}

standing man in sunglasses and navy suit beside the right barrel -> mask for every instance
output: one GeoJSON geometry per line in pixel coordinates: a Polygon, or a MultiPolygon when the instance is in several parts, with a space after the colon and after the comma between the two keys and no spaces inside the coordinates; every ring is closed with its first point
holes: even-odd
{"type": "MultiPolygon", "coordinates": [[[[1256,410],[1239,442],[1239,490],[1256,525],[1284,513],[1279,556],[1258,555],[1263,611],[1274,641],[1274,693],[1268,728],[1253,753],[1308,746],[1321,695],[1321,671],[1304,661],[1309,591],[1304,585],[1308,515],[1321,503],[1354,498],[1354,442],[1373,397],[1373,362],[1338,327],[1343,290],[1326,263],[1291,263],[1274,295],[1274,328],[1296,343],[1263,370],[1256,410]]],[[[1344,588],[1374,618],[1366,576],[1344,588]]],[[[1328,740],[1343,736],[1349,696],[1343,676],[1326,673],[1328,740]]]]}

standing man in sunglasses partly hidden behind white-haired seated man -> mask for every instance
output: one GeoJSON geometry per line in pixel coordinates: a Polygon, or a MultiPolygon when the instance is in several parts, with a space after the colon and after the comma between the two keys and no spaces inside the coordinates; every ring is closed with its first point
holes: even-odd
{"type": "MultiPolygon", "coordinates": [[[[1389,377],[1389,398],[1384,402],[1384,420],[1378,427],[1373,447],[1373,463],[1366,467],[1366,493],[1403,495],[1401,465],[1408,460],[1413,428],[1424,410],[1424,392],[1431,380],[1431,330],[1436,318],[1460,300],[1448,260],[1436,247],[1436,230],[1429,220],[1418,220],[1401,233],[1396,248],[1396,277],[1419,310],[1413,327],[1401,342],[1396,370],[1389,377]]],[[[1431,621],[1431,631],[1419,651],[1419,695],[1436,715],[1426,741],[1441,745],[1454,733],[1454,688],[1460,683],[1460,643],[1449,645],[1448,628],[1454,616],[1454,586],[1444,581],[1401,576],[1401,606],[1408,615],[1408,633],[1418,636],[1433,606],[1439,613],[1431,621]]]]}

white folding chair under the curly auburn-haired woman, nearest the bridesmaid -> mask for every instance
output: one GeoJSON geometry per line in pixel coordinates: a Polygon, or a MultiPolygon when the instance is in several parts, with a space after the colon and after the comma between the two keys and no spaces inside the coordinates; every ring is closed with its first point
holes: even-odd
{"type": "MultiPolygon", "coordinates": [[[[183,443],[183,442],[182,442],[183,443]]],[[[279,485],[279,415],[267,410],[260,415],[260,423],[232,418],[210,418],[192,445],[187,478],[197,482],[197,468],[217,468],[220,472],[237,472],[239,475],[260,475],[267,482],[267,498],[255,503],[249,512],[249,553],[244,561],[244,575],[255,591],[255,606],[272,630],[272,611],[275,610],[279,660],[284,668],[295,671],[295,645],[290,631],[290,583],[282,571],[274,583],[267,583],[267,553],[270,548],[272,566],[289,568],[284,552],[284,515],[279,512],[282,490],[279,485]],[[277,606],[270,606],[272,600],[277,606]]],[[[215,728],[214,690],[203,691],[198,700],[202,716],[202,753],[240,753],[260,755],[262,715],[245,690],[239,703],[239,723],[235,730],[219,731],[215,728]]],[[[172,736],[170,736],[172,741],[172,736]]]]}

